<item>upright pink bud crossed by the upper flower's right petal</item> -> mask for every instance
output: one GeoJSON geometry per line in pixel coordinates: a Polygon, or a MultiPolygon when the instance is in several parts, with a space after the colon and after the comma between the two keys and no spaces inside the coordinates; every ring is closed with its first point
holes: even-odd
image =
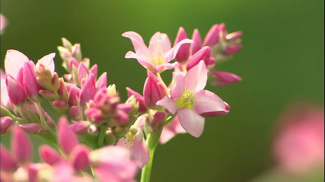
{"type": "MultiPolygon", "coordinates": [[[[177,32],[177,36],[174,42],[174,46],[180,42],[181,40],[187,38],[187,34],[183,27],[179,27],[179,30],[177,32]]],[[[186,61],[189,57],[189,44],[185,43],[182,44],[179,48],[177,55],[175,57],[175,60],[178,62],[186,61]]]]}

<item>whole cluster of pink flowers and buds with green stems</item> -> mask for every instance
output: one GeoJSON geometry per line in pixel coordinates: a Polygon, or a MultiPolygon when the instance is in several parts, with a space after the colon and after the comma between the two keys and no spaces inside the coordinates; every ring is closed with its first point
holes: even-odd
{"type": "Polygon", "coordinates": [[[228,34],[224,24],[214,25],[202,43],[197,29],[191,40],[181,27],[173,47],[168,35],[160,32],[147,47],[138,33],[123,33],[135,49],[125,58],[137,59],[147,70],[143,93],[127,87],[125,102],[115,84],[107,85],[107,73],[98,76],[98,66],[83,58],[79,43],[62,38],[58,51],[68,72],[63,77],[55,72],[55,53],[35,64],[23,53],[8,50],[5,72],[1,71],[1,134],[13,133],[14,155],[1,147],[6,158],[1,162],[2,179],[133,181],[142,168],[142,180],[148,181],[159,142],[164,144],[177,133],[199,137],[205,116],[229,112],[226,102],[204,88],[208,79],[216,86],[241,80],[215,69],[241,49],[241,35],[228,34]],[[169,84],[160,75],[168,69],[174,69],[169,84]],[[61,116],[58,122],[42,107],[42,100],[61,116]],[[44,163],[32,163],[25,132],[59,152],[41,146],[44,163]]]}

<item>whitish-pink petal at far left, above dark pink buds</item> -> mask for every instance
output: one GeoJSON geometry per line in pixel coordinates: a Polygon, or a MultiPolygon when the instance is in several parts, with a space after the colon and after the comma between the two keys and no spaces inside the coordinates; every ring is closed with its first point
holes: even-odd
{"type": "Polygon", "coordinates": [[[6,73],[16,78],[19,68],[24,66],[24,62],[29,58],[17,50],[8,50],[5,57],[6,73]]]}

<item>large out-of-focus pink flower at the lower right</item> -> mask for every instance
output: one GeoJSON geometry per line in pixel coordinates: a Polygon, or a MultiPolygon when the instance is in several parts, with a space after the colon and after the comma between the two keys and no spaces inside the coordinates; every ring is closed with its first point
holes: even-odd
{"type": "Polygon", "coordinates": [[[280,170],[305,174],[324,166],[324,108],[289,108],[279,120],[273,155],[280,170]]]}

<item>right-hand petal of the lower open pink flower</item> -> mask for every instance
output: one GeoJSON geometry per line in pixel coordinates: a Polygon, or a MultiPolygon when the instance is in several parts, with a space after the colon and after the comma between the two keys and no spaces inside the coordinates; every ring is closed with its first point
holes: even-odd
{"type": "Polygon", "coordinates": [[[200,90],[193,96],[193,107],[198,114],[216,111],[226,111],[221,98],[209,90],[200,90]]]}

